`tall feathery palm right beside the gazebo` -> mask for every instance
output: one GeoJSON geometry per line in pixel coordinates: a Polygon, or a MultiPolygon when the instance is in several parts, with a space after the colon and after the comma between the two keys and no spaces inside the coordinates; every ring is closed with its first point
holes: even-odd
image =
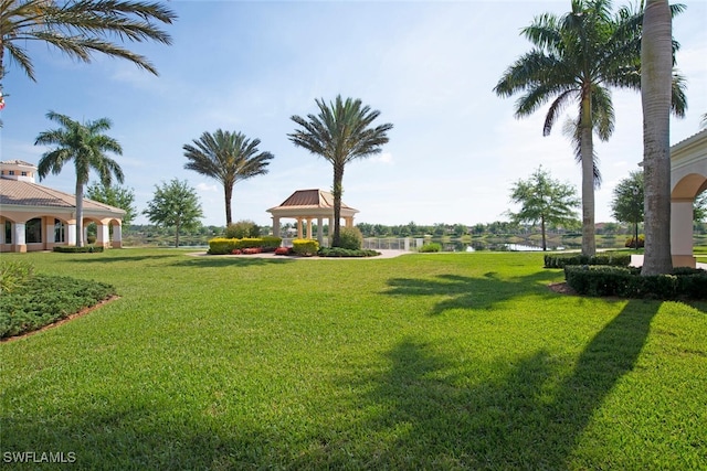
{"type": "Polygon", "coordinates": [[[319,114],[307,115],[307,119],[293,116],[291,119],[300,128],[287,135],[295,146],[324,157],[334,167],[334,236],[331,245],[339,246],[341,194],[344,193],[344,168],[354,159],[366,158],[381,152],[381,146],[388,143],[387,132],[393,125],[384,124],[374,128],[371,124],[380,111],[363,106],[360,99],[338,95],[328,105],[315,99],[319,114]]]}

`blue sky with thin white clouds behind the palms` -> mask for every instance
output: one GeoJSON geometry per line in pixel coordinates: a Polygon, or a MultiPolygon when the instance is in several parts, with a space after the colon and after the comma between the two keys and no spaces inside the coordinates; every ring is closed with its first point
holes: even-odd
{"type": "MultiPolygon", "coordinates": [[[[699,130],[707,113],[707,2],[684,0],[673,26],[677,66],[688,81],[685,119],[672,121],[672,143],[699,130]]],[[[615,6],[625,4],[616,1],[615,6]]],[[[580,186],[580,169],[561,122],[542,137],[545,109],[514,118],[515,98],[493,93],[504,71],[530,44],[519,35],[535,15],[562,14],[562,1],[180,1],[167,31],[173,45],[130,49],[157,66],[155,77],[131,63],[96,56],[77,63],[43,44],[28,44],[38,83],[14,64],[4,81],[2,160],[36,163],[48,148],[39,132],[55,127],[49,110],[77,120],[107,117],[122,143],[125,185],[141,212],[155,185],[177,178],[197,189],[204,224],[225,224],[223,189],[183,169],[182,146],[221,128],[261,139],[270,173],[234,188],[233,220],[270,224],[266,210],[299,189],[331,188],[330,164],[295,148],[293,115],[316,113],[315,98],[360,98],[392,122],[379,156],[346,168],[344,201],[357,222],[489,223],[504,212],[513,183],[542,164],[580,186]]],[[[611,221],[615,184],[642,160],[641,97],[613,93],[616,127],[597,143],[604,183],[597,221],[611,221]]],[[[568,117],[573,110],[568,111],[568,117]]],[[[74,192],[71,167],[42,182],[74,192]]],[[[144,216],[137,223],[147,223],[144,216]]]]}

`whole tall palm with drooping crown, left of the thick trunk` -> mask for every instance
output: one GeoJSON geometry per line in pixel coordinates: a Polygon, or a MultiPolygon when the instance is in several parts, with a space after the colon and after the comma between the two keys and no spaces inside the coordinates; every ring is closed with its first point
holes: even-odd
{"type": "MultiPolygon", "coordinates": [[[[544,136],[550,133],[566,106],[579,104],[572,137],[582,168],[582,254],[591,256],[597,251],[594,188],[600,182],[593,133],[608,140],[613,132],[610,87],[641,87],[642,12],[624,7],[612,14],[610,0],[572,0],[571,8],[561,18],[537,17],[523,30],[535,47],[508,67],[494,92],[499,96],[523,93],[516,104],[518,118],[551,101],[544,136]]],[[[673,92],[674,110],[684,115],[682,77],[676,76],[673,92]]]]}

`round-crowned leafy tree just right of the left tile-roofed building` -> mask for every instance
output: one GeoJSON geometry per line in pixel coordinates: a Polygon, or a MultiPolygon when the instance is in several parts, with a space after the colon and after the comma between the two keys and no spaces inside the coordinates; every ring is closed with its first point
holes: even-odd
{"type": "Polygon", "coordinates": [[[155,185],[155,196],[143,214],[157,226],[175,228],[175,247],[179,247],[179,231],[198,227],[203,217],[197,192],[187,181],[177,179],[155,185]]]}

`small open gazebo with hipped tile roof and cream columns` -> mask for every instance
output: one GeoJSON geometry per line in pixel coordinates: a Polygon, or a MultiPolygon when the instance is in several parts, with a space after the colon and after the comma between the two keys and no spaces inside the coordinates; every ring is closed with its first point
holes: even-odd
{"type": "MultiPolygon", "coordinates": [[[[323,222],[328,220],[334,227],[334,195],[324,190],[297,190],[279,206],[267,210],[273,215],[273,235],[279,237],[279,220],[283,217],[297,220],[297,238],[305,237],[303,224],[306,222],[306,238],[314,238],[312,222],[317,220],[317,240],[324,245],[323,222]]],[[[341,202],[341,218],[346,227],[354,227],[354,215],[358,213],[341,202]]]]}

